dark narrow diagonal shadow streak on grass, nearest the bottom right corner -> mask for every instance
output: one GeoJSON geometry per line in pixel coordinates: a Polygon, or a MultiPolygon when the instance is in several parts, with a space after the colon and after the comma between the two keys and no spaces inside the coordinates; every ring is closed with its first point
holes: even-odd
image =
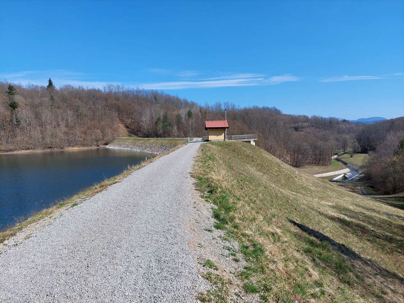
{"type": "MultiPolygon", "coordinates": [[[[297,223],[291,219],[288,219],[288,221],[298,227],[301,231],[305,232],[307,235],[312,236],[321,242],[327,242],[330,244],[332,250],[349,258],[353,265],[355,275],[358,277],[362,276],[364,278],[364,284],[366,284],[362,285],[364,290],[372,292],[372,295],[375,297],[379,297],[380,294],[375,293],[375,290],[371,290],[371,288],[373,288],[375,284],[382,284],[383,287],[387,288],[395,295],[395,297],[402,297],[404,288],[404,278],[402,276],[389,271],[372,259],[362,257],[351,248],[322,234],[320,231],[311,229],[310,227],[297,223]]],[[[379,299],[381,298],[379,297],[379,299]]]]}

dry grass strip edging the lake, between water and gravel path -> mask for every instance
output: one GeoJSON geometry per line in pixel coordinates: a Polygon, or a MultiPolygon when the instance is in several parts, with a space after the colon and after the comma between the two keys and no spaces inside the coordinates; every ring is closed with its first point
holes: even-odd
{"type": "MultiPolygon", "coordinates": [[[[120,138],[118,138],[118,139],[120,139],[120,138]]],[[[184,139],[173,139],[173,140],[168,140],[168,141],[166,141],[165,139],[158,139],[158,138],[151,138],[151,139],[142,138],[140,143],[139,143],[139,141],[137,141],[137,143],[136,143],[137,145],[139,145],[139,144],[158,145],[158,144],[162,144],[162,143],[169,144],[171,149],[169,151],[166,151],[163,154],[155,156],[152,160],[143,161],[138,165],[128,166],[128,168],[126,170],[124,170],[122,173],[120,173],[119,175],[106,179],[100,183],[96,183],[93,186],[88,187],[87,189],[84,189],[83,191],[80,191],[78,194],[74,195],[72,198],[60,201],[57,204],[55,204],[49,208],[45,208],[44,210],[41,210],[40,212],[33,214],[28,219],[15,224],[13,227],[4,229],[3,231],[0,232],[0,243],[3,243],[5,240],[10,239],[11,237],[15,236],[19,231],[23,230],[24,228],[28,227],[29,225],[32,225],[33,223],[36,223],[46,217],[55,215],[55,213],[65,209],[65,207],[74,206],[74,205],[77,205],[77,204],[87,200],[88,198],[94,196],[95,194],[98,194],[99,192],[103,191],[108,186],[122,181],[122,179],[124,179],[125,177],[127,177],[128,175],[133,173],[134,171],[142,168],[143,166],[153,162],[154,160],[156,160],[166,154],[169,154],[171,151],[174,151],[174,150],[178,149],[179,147],[182,147],[183,145],[185,145],[184,139]],[[164,140],[164,142],[162,142],[163,140],[164,140]],[[168,141],[169,141],[169,143],[168,143],[168,141]]]]}

